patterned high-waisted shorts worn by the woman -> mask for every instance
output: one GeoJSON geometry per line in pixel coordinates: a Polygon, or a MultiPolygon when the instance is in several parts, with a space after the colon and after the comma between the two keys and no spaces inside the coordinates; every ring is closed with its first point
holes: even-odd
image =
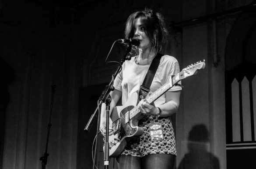
{"type": "Polygon", "coordinates": [[[144,129],[144,133],[130,140],[121,155],[176,155],[175,135],[170,118],[147,116],[140,120],[139,126],[144,129]]]}

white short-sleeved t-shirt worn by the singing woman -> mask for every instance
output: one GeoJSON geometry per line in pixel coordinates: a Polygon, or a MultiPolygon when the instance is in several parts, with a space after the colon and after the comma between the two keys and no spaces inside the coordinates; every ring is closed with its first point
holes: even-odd
{"type": "MultiPolygon", "coordinates": [[[[126,103],[131,94],[133,94],[134,92],[139,92],[140,85],[143,83],[147,71],[150,67],[150,64],[138,65],[135,63],[134,59],[135,57],[132,57],[130,61],[125,61],[123,63],[122,71],[116,76],[116,79],[114,81],[115,89],[122,91],[123,105],[126,103]]],[[[179,63],[175,59],[175,57],[168,55],[162,56],[160,64],[152,81],[149,95],[151,95],[151,93],[164,85],[171,75],[176,75],[179,72],[179,63]]],[[[180,86],[173,86],[168,91],[179,91],[181,89],[182,88],[180,86]]],[[[165,95],[161,95],[160,98],[154,101],[154,104],[156,106],[164,103],[165,95]]]]}

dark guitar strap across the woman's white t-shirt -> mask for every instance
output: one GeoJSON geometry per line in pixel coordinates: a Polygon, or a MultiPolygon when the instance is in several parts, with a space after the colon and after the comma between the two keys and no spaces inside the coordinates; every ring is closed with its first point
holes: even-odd
{"type": "Polygon", "coordinates": [[[158,69],[158,66],[159,66],[159,63],[160,63],[160,59],[161,59],[162,56],[163,56],[162,54],[158,53],[154,57],[151,65],[150,65],[150,67],[149,67],[149,69],[147,71],[147,74],[146,74],[146,76],[144,78],[144,81],[140,85],[139,100],[146,98],[147,94],[149,93],[151,83],[152,83],[152,81],[154,79],[154,75],[155,75],[155,73],[156,73],[156,71],[158,69]]]}

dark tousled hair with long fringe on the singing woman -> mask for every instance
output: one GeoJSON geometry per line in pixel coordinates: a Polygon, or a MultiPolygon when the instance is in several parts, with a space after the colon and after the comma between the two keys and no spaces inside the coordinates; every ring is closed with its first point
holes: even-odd
{"type": "Polygon", "coordinates": [[[168,41],[168,30],[165,25],[164,17],[151,9],[134,12],[126,21],[125,38],[131,39],[135,33],[135,21],[140,18],[145,26],[145,33],[151,42],[151,49],[156,53],[161,52],[168,41]]]}

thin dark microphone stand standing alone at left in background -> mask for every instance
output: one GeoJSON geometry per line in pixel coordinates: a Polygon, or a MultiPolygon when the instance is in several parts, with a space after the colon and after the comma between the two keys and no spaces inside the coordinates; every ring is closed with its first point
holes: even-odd
{"type": "Polygon", "coordinates": [[[47,130],[47,138],[46,138],[46,152],[44,156],[40,157],[40,161],[42,161],[42,169],[46,169],[47,158],[49,156],[49,154],[47,153],[47,150],[48,150],[48,143],[49,143],[50,128],[52,126],[51,117],[52,117],[52,110],[53,110],[53,95],[55,93],[56,85],[51,85],[51,87],[52,87],[52,98],[51,98],[51,108],[50,108],[49,124],[48,124],[48,130],[47,130]]]}

